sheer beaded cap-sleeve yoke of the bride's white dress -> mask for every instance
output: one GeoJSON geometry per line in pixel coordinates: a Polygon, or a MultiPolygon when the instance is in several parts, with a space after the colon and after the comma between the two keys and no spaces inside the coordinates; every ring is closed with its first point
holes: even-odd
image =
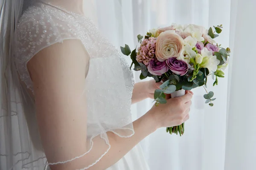
{"type": "Polygon", "coordinates": [[[43,48],[68,39],[79,39],[91,59],[119,56],[126,77],[126,87],[131,97],[133,74],[119,51],[104,38],[90,19],[80,14],[39,3],[24,12],[17,25],[15,62],[20,79],[33,91],[27,62],[43,48]]]}

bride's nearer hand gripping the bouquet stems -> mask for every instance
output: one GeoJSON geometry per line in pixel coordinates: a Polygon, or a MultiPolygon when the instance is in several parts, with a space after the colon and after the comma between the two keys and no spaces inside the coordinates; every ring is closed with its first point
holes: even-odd
{"type": "Polygon", "coordinates": [[[153,106],[147,114],[151,115],[156,128],[181,125],[189,119],[192,96],[189,91],[184,96],[167,99],[166,104],[153,106]]]}

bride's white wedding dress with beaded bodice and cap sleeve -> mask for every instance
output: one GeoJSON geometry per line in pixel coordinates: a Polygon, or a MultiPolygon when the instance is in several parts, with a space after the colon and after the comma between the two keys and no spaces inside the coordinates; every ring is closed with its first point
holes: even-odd
{"type": "MultiPolygon", "coordinates": [[[[90,99],[87,103],[89,106],[89,111],[87,111],[88,138],[93,139],[96,134],[100,134],[102,139],[105,139],[106,144],[110,145],[105,136],[107,131],[116,133],[120,137],[129,137],[134,134],[130,113],[134,85],[132,72],[119,51],[100,35],[90,19],[61,7],[38,3],[23,13],[16,31],[15,65],[21,81],[32,92],[34,88],[26,67],[27,62],[39,51],[50,45],[69,39],[81,40],[84,48],[90,54],[90,68],[85,79],[87,83],[86,95],[90,99]],[[101,125],[97,127],[96,125],[99,123],[101,125]],[[122,131],[125,126],[126,128],[122,131]]],[[[75,59],[75,53],[72,57],[75,59]]],[[[34,104],[28,101],[27,103],[28,105],[34,104]]],[[[18,109],[18,102],[16,105],[18,109]]],[[[26,119],[28,129],[24,128],[22,131],[19,127],[20,133],[22,133],[20,135],[21,150],[13,149],[15,156],[21,154],[20,160],[17,161],[17,163],[22,162],[21,168],[17,168],[19,170],[49,169],[44,152],[40,149],[41,143],[34,114],[32,113],[29,115],[30,118],[26,119]],[[26,137],[28,132],[29,135],[26,137]]],[[[4,152],[4,150],[2,151],[4,152]]],[[[104,155],[105,153],[102,154],[102,156],[104,155]]],[[[99,160],[92,162],[91,166],[97,161],[99,160]]],[[[16,166],[18,165],[15,164],[14,167],[16,166]]],[[[87,169],[86,167],[83,168],[87,169]]],[[[137,145],[107,170],[149,170],[149,168],[142,149],[137,145]]]]}

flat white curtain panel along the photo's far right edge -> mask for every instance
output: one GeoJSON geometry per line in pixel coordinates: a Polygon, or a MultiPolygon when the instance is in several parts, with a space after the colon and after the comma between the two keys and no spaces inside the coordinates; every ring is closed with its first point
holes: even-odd
{"type": "Polygon", "coordinates": [[[256,109],[254,72],[256,41],[250,29],[256,28],[256,1],[232,0],[230,42],[233,62],[229,79],[230,101],[227,117],[225,170],[255,170],[256,109]]]}

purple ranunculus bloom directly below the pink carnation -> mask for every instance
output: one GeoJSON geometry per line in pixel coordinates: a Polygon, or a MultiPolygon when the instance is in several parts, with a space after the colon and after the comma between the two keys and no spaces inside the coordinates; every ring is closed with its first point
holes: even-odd
{"type": "Polygon", "coordinates": [[[169,68],[166,65],[166,62],[160,62],[157,59],[150,60],[148,64],[148,71],[149,73],[161,76],[162,74],[166,73],[169,68]]]}

